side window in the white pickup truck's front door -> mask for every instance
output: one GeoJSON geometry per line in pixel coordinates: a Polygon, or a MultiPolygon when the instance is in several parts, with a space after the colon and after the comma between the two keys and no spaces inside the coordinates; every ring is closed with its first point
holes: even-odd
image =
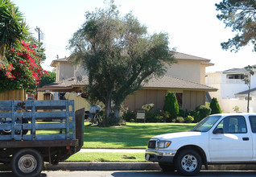
{"type": "Polygon", "coordinates": [[[247,133],[246,120],[242,116],[225,117],[217,126],[222,128],[224,134],[245,134],[247,133]]]}

